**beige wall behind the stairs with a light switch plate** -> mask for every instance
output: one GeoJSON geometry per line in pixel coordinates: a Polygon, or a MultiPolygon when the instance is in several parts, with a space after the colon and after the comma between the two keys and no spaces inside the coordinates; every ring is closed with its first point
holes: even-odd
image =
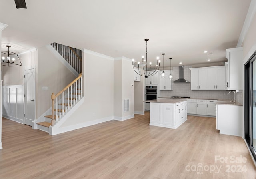
{"type": "Polygon", "coordinates": [[[76,76],[45,46],[38,48],[36,75],[36,118],[38,118],[52,106],[52,93],[57,94],[76,76]],[[42,90],[42,86],[48,87],[48,90],[42,90]]]}

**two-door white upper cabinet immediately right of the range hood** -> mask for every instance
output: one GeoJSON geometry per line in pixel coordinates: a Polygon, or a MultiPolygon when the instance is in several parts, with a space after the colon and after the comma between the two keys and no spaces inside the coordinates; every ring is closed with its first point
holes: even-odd
{"type": "Polygon", "coordinates": [[[207,69],[190,68],[191,70],[191,90],[207,89],[207,69]]]}

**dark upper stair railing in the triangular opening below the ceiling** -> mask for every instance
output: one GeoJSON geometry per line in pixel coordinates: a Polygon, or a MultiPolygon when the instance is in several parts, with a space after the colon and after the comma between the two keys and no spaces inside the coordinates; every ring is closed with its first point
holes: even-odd
{"type": "Polygon", "coordinates": [[[82,72],[82,50],[58,44],[51,44],[55,50],[80,74],[82,72]]]}

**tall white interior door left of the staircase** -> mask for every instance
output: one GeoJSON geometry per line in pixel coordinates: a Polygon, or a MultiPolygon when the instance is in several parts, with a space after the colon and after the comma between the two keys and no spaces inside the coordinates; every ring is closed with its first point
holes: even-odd
{"type": "Polygon", "coordinates": [[[25,70],[25,120],[26,125],[32,126],[36,113],[36,69],[25,70]]]}

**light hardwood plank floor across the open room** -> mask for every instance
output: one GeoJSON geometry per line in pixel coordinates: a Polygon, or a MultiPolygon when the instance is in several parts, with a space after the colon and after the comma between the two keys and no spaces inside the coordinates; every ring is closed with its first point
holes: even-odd
{"type": "Polygon", "coordinates": [[[0,179],[256,178],[244,140],[219,134],[215,118],[188,116],[178,129],[148,124],[146,113],[50,136],[3,119],[0,179]]]}

